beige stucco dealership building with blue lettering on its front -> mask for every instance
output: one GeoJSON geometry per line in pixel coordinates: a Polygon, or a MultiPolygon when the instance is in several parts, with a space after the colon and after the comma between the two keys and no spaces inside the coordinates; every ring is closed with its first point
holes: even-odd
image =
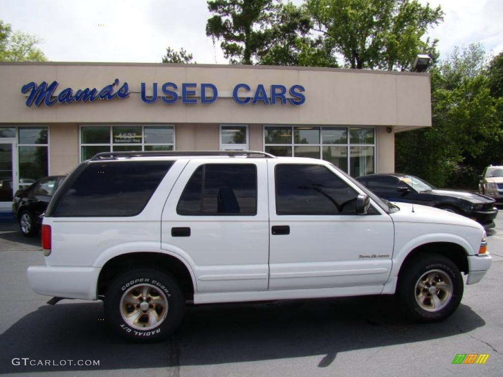
{"type": "Polygon", "coordinates": [[[100,151],[249,149],[390,172],[394,134],[431,126],[426,73],[47,62],[0,63],[0,79],[4,191],[100,151]]]}

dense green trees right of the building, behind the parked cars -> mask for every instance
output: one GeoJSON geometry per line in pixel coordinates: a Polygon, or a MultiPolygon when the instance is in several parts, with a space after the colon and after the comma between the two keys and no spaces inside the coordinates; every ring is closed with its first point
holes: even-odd
{"type": "Polygon", "coordinates": [[[432,69],[432,127],[396,135],[397,171],[475,189],[483,167],[503,162],[503,100],[491,96],[485,63],[472,44],[432,69]]]}

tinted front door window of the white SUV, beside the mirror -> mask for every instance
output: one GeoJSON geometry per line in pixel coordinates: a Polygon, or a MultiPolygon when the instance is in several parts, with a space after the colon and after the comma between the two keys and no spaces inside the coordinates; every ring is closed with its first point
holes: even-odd
{"type": "Polygon", "coordinates": [[[277,215],[355,214],[357,196],[324,166],[276,166],[277,215]]]}

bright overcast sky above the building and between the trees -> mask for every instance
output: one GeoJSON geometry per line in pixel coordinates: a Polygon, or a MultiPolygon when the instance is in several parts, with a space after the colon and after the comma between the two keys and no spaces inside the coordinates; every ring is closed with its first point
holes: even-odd
{"type": "MultiPolygon", "coordinates": [[[[430,4],[445,12],[444,22],[429,33],[440,39],[441,57],[471,42],[483,43],[491,54],[503,50],[503,1],[430,4]]],[[[227,63],[220,43],[214,46],[206,37],[205,0],[0,0],[0,5],[4,22],[43,39],[39,47],[49,60],[160,62],[170,46],[192,52],[198,63],[227,63]]]]}

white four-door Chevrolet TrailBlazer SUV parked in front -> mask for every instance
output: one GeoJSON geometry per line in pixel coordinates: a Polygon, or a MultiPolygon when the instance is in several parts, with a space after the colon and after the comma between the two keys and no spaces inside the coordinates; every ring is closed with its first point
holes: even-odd
{"type": "Polygon", "coordinates": [[[81,163],[42,225],[35,292],[104,300],[137,341],[194,304],[395,294],[412,319],[451,315],[491,264],[481,225],[391,204],[332,164],[263,152],[111,152],[81,163]]]}

